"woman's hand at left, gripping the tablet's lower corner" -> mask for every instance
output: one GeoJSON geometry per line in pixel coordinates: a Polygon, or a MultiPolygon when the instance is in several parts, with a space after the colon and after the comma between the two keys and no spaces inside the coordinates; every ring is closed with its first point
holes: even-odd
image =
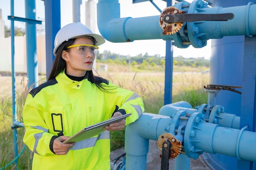
{"type": "Polygon", "coordinates": [[[63,141],[68,138],[68,136],[60,136],[53,141],[53,151],[56,155],[66,155],[70,148],[76,144],[75,142],[71,144],[63,144],[63,141]]]}

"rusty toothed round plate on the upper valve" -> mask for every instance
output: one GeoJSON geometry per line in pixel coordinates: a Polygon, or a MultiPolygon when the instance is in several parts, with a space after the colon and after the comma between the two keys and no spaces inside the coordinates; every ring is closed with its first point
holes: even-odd
{"type": "Polygon", "coordinates": [[[165,15],[167,15],[167,14],[175,15],[175,14],[179,14],[179,13],[184,13],[184,11],[180,11],[176,7],[167,7],[166,9],[164,9],[162,11],[162,13],[160,14],[160,17],[159,17],[159,24],[160,24],[161,28],[163,29],[162,35],[173,35],[173,34],[177,33],[178,31],[180,31],[180,29],[183,26],[182,22],[176,22],[176,23],[164,22],[165,15]]]}

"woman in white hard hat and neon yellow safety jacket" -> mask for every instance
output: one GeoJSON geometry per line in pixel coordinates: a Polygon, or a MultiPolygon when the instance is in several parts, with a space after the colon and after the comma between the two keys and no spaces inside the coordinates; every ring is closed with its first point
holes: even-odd
{"type": "Polygon", "coordinates": [[[110,170],[109,131],[123,129],[143,113],[136,93],[93,75],[104,42],[81,23],[67,24],[56,34],[48,81],[30,91],[23,110],[23,141],[34,152],[32,170],[110,170]],[[84,127],[128,113],[100,135],[63,143],[84,127]]]}

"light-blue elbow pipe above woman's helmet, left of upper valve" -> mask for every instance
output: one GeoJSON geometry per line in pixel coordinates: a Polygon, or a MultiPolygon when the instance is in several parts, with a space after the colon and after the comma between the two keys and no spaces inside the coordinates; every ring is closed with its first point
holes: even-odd
{"type": "Polygon", "coordinates": [[[97,3],[97,24],[101,35],[110,42],[131,42],[133,40],[173,40],[161,35],[159,16],[141,18],[120,18],[118,0],[99,0],[97,3]]]}

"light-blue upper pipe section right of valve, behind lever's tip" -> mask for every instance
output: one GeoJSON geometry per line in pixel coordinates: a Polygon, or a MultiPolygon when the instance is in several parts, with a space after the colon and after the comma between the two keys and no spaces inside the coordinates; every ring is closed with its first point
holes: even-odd
{"type": "Polygon", "coordinates": [[[219,39],[224,36],[247,35],[248,33],[256,35],[256,4],[228,8],[212,7],[203,9],[199,13],[234,13],[232,20],[198,22],[196,26],[198,26],[199,33],[206,33],[200,39],[219,39]]]}

